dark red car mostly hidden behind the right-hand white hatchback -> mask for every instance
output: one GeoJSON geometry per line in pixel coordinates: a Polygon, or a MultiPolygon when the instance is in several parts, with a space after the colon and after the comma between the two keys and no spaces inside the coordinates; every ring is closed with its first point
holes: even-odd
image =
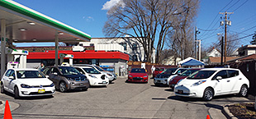
{"type": "Polygon", "coordinates": [[[194,69],[188,69],[187,71],[184,71],[182,74],[173,77],[169,81],[170,88],[174,88],[174,86],[178,83],[179,80],[185,79],[187,76],[190,76],[192,73],[201,70],[200,68],[194,68],[194,69]]]}

